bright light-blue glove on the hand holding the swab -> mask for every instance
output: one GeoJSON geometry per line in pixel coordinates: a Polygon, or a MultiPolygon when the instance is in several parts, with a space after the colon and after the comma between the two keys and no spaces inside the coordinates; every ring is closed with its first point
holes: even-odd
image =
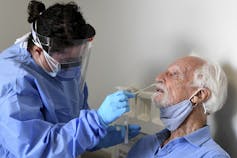
{"type": "Polygon", "coordinates": [[[134,94],[127,91],[117,91],[108,95],[97,110],[102,124],[108,125],[128,112],[130,110],[128,99],[133,97],[134,94]]]}

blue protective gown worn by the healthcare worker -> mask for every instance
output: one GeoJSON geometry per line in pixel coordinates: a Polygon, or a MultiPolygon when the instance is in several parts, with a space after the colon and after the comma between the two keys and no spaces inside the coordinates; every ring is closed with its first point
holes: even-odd
{"type": "Polygon", "coordinates": [[[24,44],[0,53],[0,157],[77,157],[106,134],[87,87],[49,76],[24,44]]]}

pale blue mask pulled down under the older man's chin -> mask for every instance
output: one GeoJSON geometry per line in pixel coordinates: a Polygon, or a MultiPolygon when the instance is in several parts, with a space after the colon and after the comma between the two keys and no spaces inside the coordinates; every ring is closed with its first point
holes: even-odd
{"type": "Polygon", "coordinates": [[[189,99],[175,105],[160,107],[160,119],[170,131],[176,130],[193,110],[191,98],[201,89],[198,89],[189,99]]]}

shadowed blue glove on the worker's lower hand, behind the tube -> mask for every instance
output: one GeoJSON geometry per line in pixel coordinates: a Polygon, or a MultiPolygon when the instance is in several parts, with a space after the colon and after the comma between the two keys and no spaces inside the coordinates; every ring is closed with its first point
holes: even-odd
{"type": "MultiPolygon", "coordinates": [[[[131,139],[139,134],[141,127],[136,124],[128,125],[128,138],[131,139]]],[[[124,142],[126,127],[124,125],[114,125],[107,128],[107,135],[102,138],[92,150],[111,147],[124,142]]]]}

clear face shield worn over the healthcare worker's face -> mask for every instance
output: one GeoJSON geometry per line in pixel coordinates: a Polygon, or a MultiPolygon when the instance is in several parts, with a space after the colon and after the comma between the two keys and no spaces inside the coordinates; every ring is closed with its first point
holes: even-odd
{"type": "MultiPolygon", "coordinates": [[[[36,25],[35,25],[36,26],[36,25]]],[[[82,92],[85,84],[86,70],[90,57],[92,38],[59,39],[42,36],[32,25],[32,37],[36,46],[43,50],[45,61],[50,71],[43,69],[52,77],[62,81],[76,79],[82,92]]]]}

